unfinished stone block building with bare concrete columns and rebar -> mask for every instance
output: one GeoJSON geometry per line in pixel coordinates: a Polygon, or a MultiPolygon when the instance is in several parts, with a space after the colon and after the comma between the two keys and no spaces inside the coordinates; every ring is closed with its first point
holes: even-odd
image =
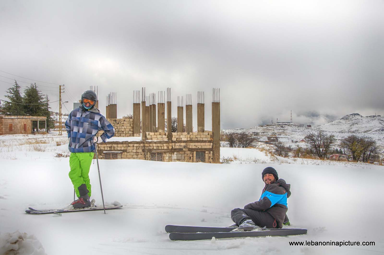
{"type": "MultiPolygon", "coordinates": [[[[138,126],[141,121],[141,141],[113,141],[98,145],[98,155],[101,159],[144,159],[152,161],[183,161],[183,162],[220,162],[220,92],[212,90],[212,131],[204,130],[204,92],[198,93],[197,122],[198,130],[192,130],[192,95],[187,95],[188,110],[186,107],[187,124],[186,132],[169,132],[170,121],[165,128],[165,103],[164,95],[158,92],[157,124],[153,117],[151,104],[154,100],[145,95],[142,88],[141,106],[139,91],[134,91],[134,114],[133,119],[108,119],[114,126],[116,137],[140,136],[138,126]],[[135,94],[136,93],[136,94],[135,94]],[[151,102],[151,103],[150,103],[151,102]],[[140,113],[141,107],[141,113],[140,113]],[[136,109],[136,110],[135,110],[136,109]],[[200,109],[200,110],[199,110],[200,109]],[[140,115],[141,114],[141,115],[140,115]],[[141,118],[137,118],[141,116],[141,118]],[[164,126],[163,126],[164,125],[164,126]],[[136,129],[135,129],[136,126],[136,129]],[[123,130],[121,132],[121,130],[123,130]],[[131,131],[132,130],[132,131],[131,131]],[[155,131],[155,132],[151,132],[155,131]],[[126,132],[127,131],[127,132],[126,132]]],[[[172,118],[170,88],[167,88],[167,120],[172,118]]],[[[155,104],[156,107],[156,104],[155,104]]],[[[178,127],[183,127],[184,114],[183,99],[178,98],[178,127]],[[180,124],[179,124],[180,123],[180,124]]],[[[180,130],[182,131],[182,129],[180,130]]],[[[100,131],[101,133],[102,131],[100,131]]]]}

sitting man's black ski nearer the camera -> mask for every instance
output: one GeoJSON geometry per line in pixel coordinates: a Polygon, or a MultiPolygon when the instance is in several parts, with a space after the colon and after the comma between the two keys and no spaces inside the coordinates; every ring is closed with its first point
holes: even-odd
{"type": "Polygon", "coordinates": [[[170,240],[207,240],[215,238],[236,238],[236,237],[261,237],[261,236],[287,236],[303,235],[306,229],[267,229],[260,231],[232,231],[232,232],[214,232],[214,233],[170,233],[170,240]]]}

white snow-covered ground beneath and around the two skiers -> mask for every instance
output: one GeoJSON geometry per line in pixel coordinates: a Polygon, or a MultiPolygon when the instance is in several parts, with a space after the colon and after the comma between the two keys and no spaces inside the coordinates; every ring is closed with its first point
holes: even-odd
{"type": "MultiPolygon", "coordinates": [[[[55,157],[66,153],[65,140],[56,133],[0,136],[0,254],[10,248],[18,253],[9,254],[35,255],[384,253],[384,167],[294,161],[257,149],[221,148],[221,157],[238,158],[231,164],[99,160],[104,200],[119,201],[122,209],[108,210],[106,215],[103,211],[61,217],[25,214],[26,207],[61,208],[73,200],[69,158],[55,157]],[[291,227],[306,228],[308,234],[215,242],[169,240],[167,224],[231,225],[233,208],[260,197],[266,166],[275,167],[279,177],[291,184],[291,227]],[[343,240],[375,245],[288,243],[343,240]]],[[[92,198],[100,204],[96,162],[90,178],[92,198]]]]}

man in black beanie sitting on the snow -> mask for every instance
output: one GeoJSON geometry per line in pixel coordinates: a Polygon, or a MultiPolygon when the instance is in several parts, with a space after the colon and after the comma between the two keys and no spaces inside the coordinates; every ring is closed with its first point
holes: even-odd
{"type": "Polygon", "coordinates": [[[238,225],[239,230],[253,230],[257,226],[280,228],[290,225],[286,212],[287,198],[291,195],[290,184],[278,179],[273,167],[266,167],[262,172],[265,182],[260,199],[247,204],[244,209],[236,208],[231,212],[231,219],[238,225]]]}

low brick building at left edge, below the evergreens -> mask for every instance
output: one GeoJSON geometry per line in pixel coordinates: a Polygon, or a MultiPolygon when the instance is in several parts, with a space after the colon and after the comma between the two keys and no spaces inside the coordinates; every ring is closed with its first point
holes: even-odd
{"type": "Polygon", "coordinates": [[[0,115],[0,136],[5,134],[46,134],[46,117],[0,115]],[[39,130],[41,121],[44,130],[39,130]]]}

